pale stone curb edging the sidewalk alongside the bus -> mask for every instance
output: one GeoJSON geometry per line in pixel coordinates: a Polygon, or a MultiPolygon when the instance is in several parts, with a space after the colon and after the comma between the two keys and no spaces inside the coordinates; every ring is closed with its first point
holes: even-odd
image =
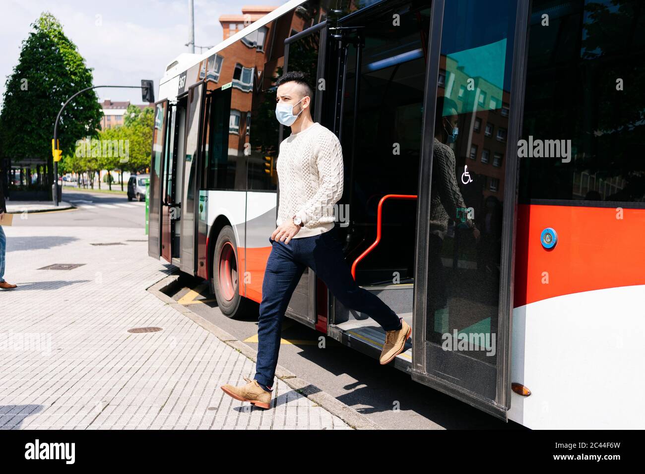
{"type": "MultiPolygon", "coordinates": [[[[157,298],[159,298],[168,306],[172,306],[176,311],[188,317],[199,326],[203,327],[205,330],[213,333],[217,339],[228,344],[233,349],[241,352],[243,355],[248,357],[248,359],[255,362],[257,360],[257,351],[254,350],[251,346],[244,344],[244,342],[239,341],[232,334],[224,331],[223,329],[215,326],[210,321],[207,321],[197,313],[194,313],[186,306],[182,306],[177,301],[169,297],[164,293],[164,291],[172,291],[178,289],[179,286],[179,275],[169,275],[164,277],[160,281],[156,282],[149,288],[146,288],[146,291],[152,293],[157,298]]],[[[326,391],[321,390],[315,385],[310,384],[306,380],[300,379],[292,371],[287,370],[280,364],[275,368],[275,377],[279,380],[282,380],[285,384],[290,386],[293,390],[297,391],[304,397],[312,400],[318,406],[324,408],[324,410],[329,411],[332,415],[339,417],[343,422],[348,424],[350,428],[354,430],[383,430],[382,426],[376,424],[372,420],[368,419],[365,415],[362,415],[358,411],[354,410],[350,406],[342,403],[340,400],[335,399],[326,391]]]]}

